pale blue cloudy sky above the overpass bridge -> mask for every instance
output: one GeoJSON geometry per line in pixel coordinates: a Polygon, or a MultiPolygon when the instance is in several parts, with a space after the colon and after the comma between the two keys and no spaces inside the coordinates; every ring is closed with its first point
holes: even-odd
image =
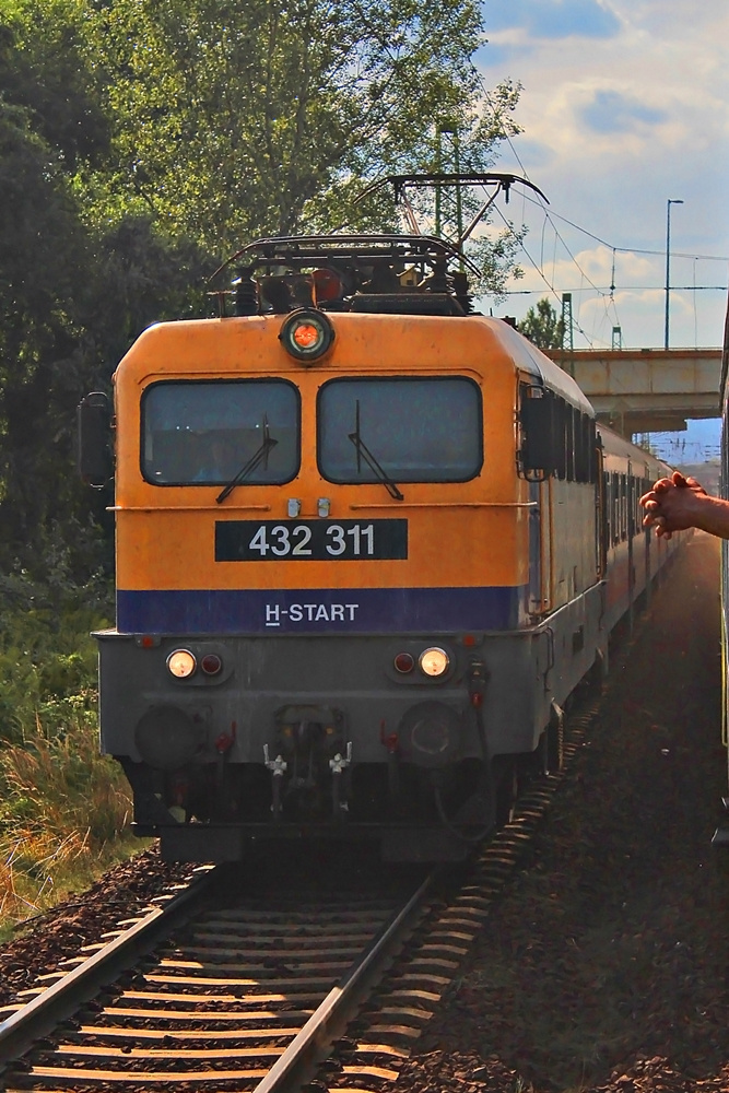
{"type": "MultiPolygon", "coordinates": [[[[662,346],[667,202],[681,200],[670,205],[670,345],[720,345],[727,0],[484,0],[484,11],[477,61],[486,87],[507,78],[522,85],[524,132],[494,169],[526,175],[550,203],[515,188],[501,205],[528,225],[525,277],[504,303],[482,307],[522,318],[541,296],[560,310],[572,292],[576,349],[611,348],[613,327],[626,349],[662,346]]],[[[714,423],[708,432],[718,437],[714,423]]]]}

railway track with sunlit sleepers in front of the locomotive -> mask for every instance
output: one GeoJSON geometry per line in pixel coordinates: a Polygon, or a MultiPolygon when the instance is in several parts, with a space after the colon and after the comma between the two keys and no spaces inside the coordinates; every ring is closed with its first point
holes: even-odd
{"type": "MultiPolygon", "coordinates": [[[[596,704],[571,719],[567,765],[596,704]]],[[[0,1012],[3,1089],[381,1093],[561,778],[458,871],[362,866],[340,882],[329,866],[325,882],[299,862],[283,889],[248,877],[237,892],[228,870],[200,871],[0,1012]]]]}

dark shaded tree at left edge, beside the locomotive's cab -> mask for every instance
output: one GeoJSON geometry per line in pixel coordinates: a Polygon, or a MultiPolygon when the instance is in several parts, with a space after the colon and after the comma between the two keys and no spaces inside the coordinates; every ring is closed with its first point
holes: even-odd
{"type": "Polygon", "coordinates": [[[75,407],[144,326],[184,313],[203,265],[149,216],[108,228],[83,209],[75,172],[109,145],[77,14],[52,0],[43,21],[32,4],[0,21],[0,571],[47,572],[63,529],[81,553],[75,407]]]}

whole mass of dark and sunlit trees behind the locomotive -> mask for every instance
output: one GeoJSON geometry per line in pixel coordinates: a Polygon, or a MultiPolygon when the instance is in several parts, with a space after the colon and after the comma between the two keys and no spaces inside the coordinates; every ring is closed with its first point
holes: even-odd
{"type": "MultiPolygon", "coordinates": [[[[478,0],[8,0],[0,11],[0,572],[43,575],[110,497],[74,472],[90,389],[157,319],[208,309],[204,282],[268,233],[388,228],[354,208],[384,173],[438,165],[439,131],[484,169],[519,87],[485,98],[478,0]]],[[[440,162],[442,166],[452,166],[440,162]]],[[[478,242],[482,291],[517,243],[478,242]]],[[[83,551],[81,552],[83,553],[83,551]]]]}

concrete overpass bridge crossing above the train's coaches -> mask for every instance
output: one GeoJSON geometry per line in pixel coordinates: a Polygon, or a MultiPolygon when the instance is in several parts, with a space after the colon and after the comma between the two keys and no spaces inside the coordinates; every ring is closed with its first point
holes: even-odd
{"type": "Polygon", "coordinates": [[[719,418],[720,349],[548,350],[573,376],[598,420],[623,436],[680,431],[719,418]]]}

